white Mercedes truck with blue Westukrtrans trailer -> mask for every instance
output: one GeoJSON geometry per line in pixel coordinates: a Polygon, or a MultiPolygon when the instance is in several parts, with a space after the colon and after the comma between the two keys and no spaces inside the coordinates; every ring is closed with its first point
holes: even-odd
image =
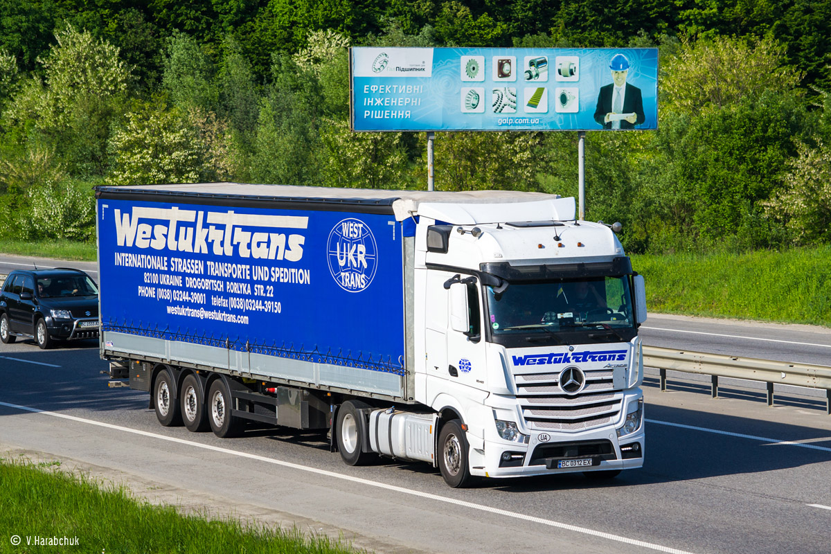
{"type": "MultiPolygon", "coordinates": [[[[96,189],[101,357],[163,425],[475,478],[642,466],[643,277],[574,199],[96,189]]],[[[615,230],[618,225],[616,224],[615,230]]]]}

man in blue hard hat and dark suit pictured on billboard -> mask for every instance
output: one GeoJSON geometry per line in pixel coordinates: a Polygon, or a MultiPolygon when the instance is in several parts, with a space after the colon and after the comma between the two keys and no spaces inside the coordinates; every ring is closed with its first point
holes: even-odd
{"type": "Polygon", "coordinates": [[[634,129],[635,125],[641,125],[646,119],[641,89],[626,81],[629,72],[626,56],[615,54],[609,68],[614,82],[600,88],[594,120],[603,129],[634,129]]]}

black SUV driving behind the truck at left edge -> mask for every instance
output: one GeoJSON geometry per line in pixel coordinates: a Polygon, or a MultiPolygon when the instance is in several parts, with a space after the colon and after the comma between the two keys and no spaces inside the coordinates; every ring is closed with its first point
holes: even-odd
{"type": "Polygon", "coordinates": [[[77,269],[14,271],[0,292],[0,340],[32,337],[37,346],[98,337],[98,287],[77,269]]]}

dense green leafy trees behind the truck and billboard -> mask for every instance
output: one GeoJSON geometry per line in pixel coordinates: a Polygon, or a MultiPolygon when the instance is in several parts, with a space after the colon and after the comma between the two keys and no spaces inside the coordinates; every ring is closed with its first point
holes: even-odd
{"type": "MultiPolygon", "coordinates": [[[[424,188],[352,133],[346,47],[660,48],[658,131],[587,138],[635,252],[831,242],[831,2],[0,0],[0,238],[88,240],[90,187],[424,188]]],[[[437,189],[577,188],[575,133],[440,133],[437,189]]]]}

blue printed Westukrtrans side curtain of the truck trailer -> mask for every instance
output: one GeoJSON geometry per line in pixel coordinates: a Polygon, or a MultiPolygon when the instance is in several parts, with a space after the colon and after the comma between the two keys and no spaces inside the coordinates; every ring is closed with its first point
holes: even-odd
{"type": "Polygon", "coordinates": [[[100,200],[101,326],[403,375],[391,215],[100,200]]]}

